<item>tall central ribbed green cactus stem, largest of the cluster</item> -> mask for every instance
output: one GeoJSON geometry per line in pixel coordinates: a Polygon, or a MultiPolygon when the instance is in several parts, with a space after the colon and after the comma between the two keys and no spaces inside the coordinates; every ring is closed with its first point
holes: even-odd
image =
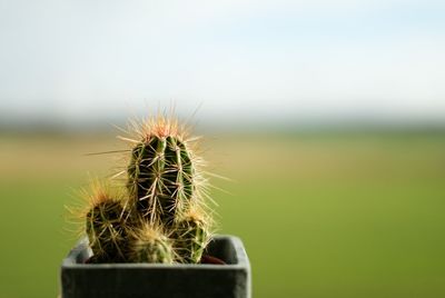
{"type": "Polygon", "coordinates": [[[136,145],[127,172],[130,197],[148,221],[171,226],[188,209],[194,168],[186,145],[177,137],[151,136],[136,145]]]}

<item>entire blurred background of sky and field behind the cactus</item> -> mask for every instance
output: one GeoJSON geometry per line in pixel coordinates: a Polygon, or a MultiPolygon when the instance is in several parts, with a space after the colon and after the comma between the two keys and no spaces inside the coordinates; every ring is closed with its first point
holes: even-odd
{"type": "Polygon", "coordinates": [[[175,108],[254,297],[445,297],[443,1],[0,0],[0,297],[56,297],[66,205],[175,108]]]}

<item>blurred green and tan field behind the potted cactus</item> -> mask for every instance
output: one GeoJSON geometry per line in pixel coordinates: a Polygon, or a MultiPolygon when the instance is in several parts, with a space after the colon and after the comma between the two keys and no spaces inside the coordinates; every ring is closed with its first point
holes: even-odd
{"type": "MultiPolygon", "coordinates": [[[[0,137],[0,297],[56,297],[76,236],[63,205],[112,136],[0,137]]],[[[220,232],[254,297],[445,297],[445,133],[221,135],[204,143],[220,232]]]]}

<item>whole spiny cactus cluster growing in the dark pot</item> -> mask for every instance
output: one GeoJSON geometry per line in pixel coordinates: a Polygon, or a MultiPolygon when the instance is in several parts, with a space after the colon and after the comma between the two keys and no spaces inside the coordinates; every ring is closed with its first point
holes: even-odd
{"type": "Polygon", "coordinates": [[[211,218],[194,141],[176,120],[134,123],[125,196],[91,196],[85,212],[91,262],[198,264],[211,238],[211,218]]]}

